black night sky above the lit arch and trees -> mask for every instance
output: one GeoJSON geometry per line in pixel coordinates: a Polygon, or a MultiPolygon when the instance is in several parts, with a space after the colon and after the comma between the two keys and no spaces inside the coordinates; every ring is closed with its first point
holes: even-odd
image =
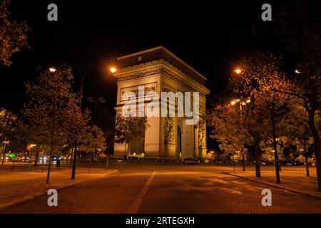
{"type": "MultiPolygon", "coordinates": [[[[34,80],[36,66],[66,62],[88,71],[84,93],[105,95],[116,103],[116,81],[106,73],[113,58],[163,45],[208,78],[211,95],[224,89],[229,63],[239,52],[276,51],[267,35],[252,26],[266,24],[267,1],[24,1],[12,0],[13,19],[26,20],[30,50],[14,54],[10,67],[0,66],[0,106],[17,111],[24,103],[24,82],[34,80]],[[58,5],[58,21],[47,20],[47,6],[58,5]]],[[[272,13],[277,2],[268,1],[272,13]]],[[[79,75],[75,74],[79,83],[79,75]]]]}

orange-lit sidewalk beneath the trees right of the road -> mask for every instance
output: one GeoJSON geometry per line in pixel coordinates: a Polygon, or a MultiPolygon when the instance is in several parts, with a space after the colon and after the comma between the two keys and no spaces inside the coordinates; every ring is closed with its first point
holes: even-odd
{"type": "Polygon", "coordinates": [[[307,177],[305,167],[297,171],[287,170],[287,167],[282,167],[280,183],[276,183],[275,171],[272,170],[261,170],[261,177],[255,177],[254,170],[245,172],[237,170],[224,173],[321,200],[321,192],[317,191],[315,168],[310,168],[310,177],[307,177]]]}

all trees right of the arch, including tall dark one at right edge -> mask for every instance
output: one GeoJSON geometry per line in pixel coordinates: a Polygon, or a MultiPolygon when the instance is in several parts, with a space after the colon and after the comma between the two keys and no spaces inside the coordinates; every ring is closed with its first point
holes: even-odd
{"type": "Polygon", "coordinates": [[[238,70],[230,78],[230,95],[210,110],[209,123],[223,144],[236,150],[253,147],[258,177],[262,149],[272,144],[277,182],[277,140],[296,145],[305,157],[310,141],[321,190],[321,33],[320,26],[314,26],[321,23],[320,3],[282,1],[281,5],[269,31],[275,31],[284,44],[285,55],[265,51],[240,55],[232,64],[238,70]],[[285,64],[289,56],[294,67],[285,64]],[[232,97],[238,105],[230,104],[232,97]]]}

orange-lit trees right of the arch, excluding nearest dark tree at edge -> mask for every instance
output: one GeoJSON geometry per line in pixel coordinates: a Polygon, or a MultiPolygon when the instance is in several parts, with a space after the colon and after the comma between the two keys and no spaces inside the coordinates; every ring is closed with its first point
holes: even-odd
{"type": "MultiPolygon", "coordinates": [[[[220,141],[221,150],[243,153],[247,147],[248,157],[255,160],[257,177],[260,177],[263,149],[274,150],[272,160],[277,165],[280,145],[294,145],[305,157],[305,162],[311,155],[309,142],[313,148],[305,109],[297,104],[297,98],[270,87],[270,83],[280,83],[275,81],[280,71],[277,60],[270,53],[253,53],[240,58],[236,65],[243,71],[231,78],[231,93],[221,99],[208,115],[210,125],[215,127],[212,137],[220,141]],[[269,81],[263,80],[265,76],[271,76],[269,81]]],[[[320,129],[319,114],[317,111],[314,120],[317,130],[320,129]]],[[[280,182],[280,177],[277,177],[277,182],[280,182]]]]}

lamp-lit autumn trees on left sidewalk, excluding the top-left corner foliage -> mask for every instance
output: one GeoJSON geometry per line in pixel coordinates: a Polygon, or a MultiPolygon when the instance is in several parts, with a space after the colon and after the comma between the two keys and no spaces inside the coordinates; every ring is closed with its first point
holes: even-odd
{"type": "MultiPolygon", "coordinates": [[[[66,64],[61,64],[56,71],[39,68],[36,82],[26,83],[27,101],[21,110],[21,118],[1,110],[0,138],[22,142],[23,148],[30,142],[35,143],[38,148],[46,150],[49,157],[72,148],[71,179],[74,179],[78,150],[86,151],[92,157],[97,150],[105,151],[107,144],[103,130],[91,120],[90,110],[81,110],[80,97],[72,87],[73,73],[66,64]]],[[[36,150],[35,166],[38,157],[39,149],[36,150]]],[[[47,183],[50,170],[51,162],[47,183]]]]}

